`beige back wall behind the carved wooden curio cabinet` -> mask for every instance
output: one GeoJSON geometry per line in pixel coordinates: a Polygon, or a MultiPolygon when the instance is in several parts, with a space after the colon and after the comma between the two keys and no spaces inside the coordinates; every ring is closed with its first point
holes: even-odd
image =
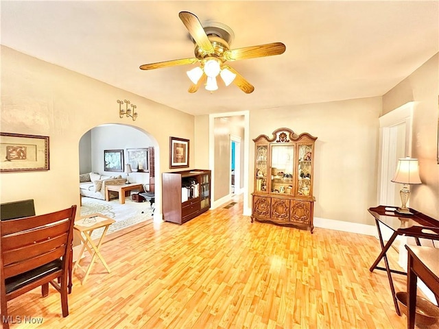
{"type": "MultiPolygon", "coordinates": [[[[381,97],[251,111],[250,139],[260,134],[271,136],[279,127],[318,137],[314,152],[314,216],[373,225],[367,210],[377,206],[380,113],[381,97]]],[[[252,192],[253,142],[249,174],[252,192]]]]}

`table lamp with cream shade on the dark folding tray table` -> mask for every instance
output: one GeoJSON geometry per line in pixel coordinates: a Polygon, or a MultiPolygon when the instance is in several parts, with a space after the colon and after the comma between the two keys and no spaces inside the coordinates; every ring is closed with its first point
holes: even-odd
{"type": "Polygon", "coordinates": [[[395,212],[401,215],[413,215],[410,209],[407,208],[406,204],[409,201],[410,189],[409,184],[422,184],[419,178],[419,164],[418,159],[413,159],[407,156],[407,158],[402,158],[398,160],[398,167],[396,168],[396,173],[392,179],[394,183],[403,184],[403,188],[399,191],[401,195],[402,206],[395,210],[395,212]]]}

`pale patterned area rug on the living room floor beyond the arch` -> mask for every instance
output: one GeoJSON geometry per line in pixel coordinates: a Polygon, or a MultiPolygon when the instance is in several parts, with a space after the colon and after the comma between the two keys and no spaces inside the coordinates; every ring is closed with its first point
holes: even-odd
{"type": "MultiPolygon", "coordinates": [[[[99,213],[115,219],[116,223],[112,223],[108,228],[107,234],[110,234],[143,221],[152,221],[152,210],[150,202],[133,202],[130,198],[125,199],[125,204],[120,204],[119,199],[104,201],[82,197],[81,216],[99,213]]],[[[94,230],[91,234],[92,239],[99,238],[103,230],[104,228],[94,230]]]]}

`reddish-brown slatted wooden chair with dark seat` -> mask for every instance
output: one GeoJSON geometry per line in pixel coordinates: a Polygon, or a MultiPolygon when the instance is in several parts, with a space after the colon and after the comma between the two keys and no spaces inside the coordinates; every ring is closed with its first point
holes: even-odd
{"type": "Polygon", "coordinates": [[[76,206],[50,214],[0,221],[0,293],[3,329],[9,328],[7,302],[49,283],[61,294],[62,316],[69,315],[67,293],[73,253],[76,206]]]}

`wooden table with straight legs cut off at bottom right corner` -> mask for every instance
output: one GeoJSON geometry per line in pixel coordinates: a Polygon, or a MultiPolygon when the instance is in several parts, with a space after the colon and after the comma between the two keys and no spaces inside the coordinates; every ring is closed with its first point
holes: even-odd
{"type": "Polygon", "coordinates": [[[416,281],[422,280],[439,300],[439,248],[405,245],[407,260],[407,328],[414,328],[416,281]]]}

